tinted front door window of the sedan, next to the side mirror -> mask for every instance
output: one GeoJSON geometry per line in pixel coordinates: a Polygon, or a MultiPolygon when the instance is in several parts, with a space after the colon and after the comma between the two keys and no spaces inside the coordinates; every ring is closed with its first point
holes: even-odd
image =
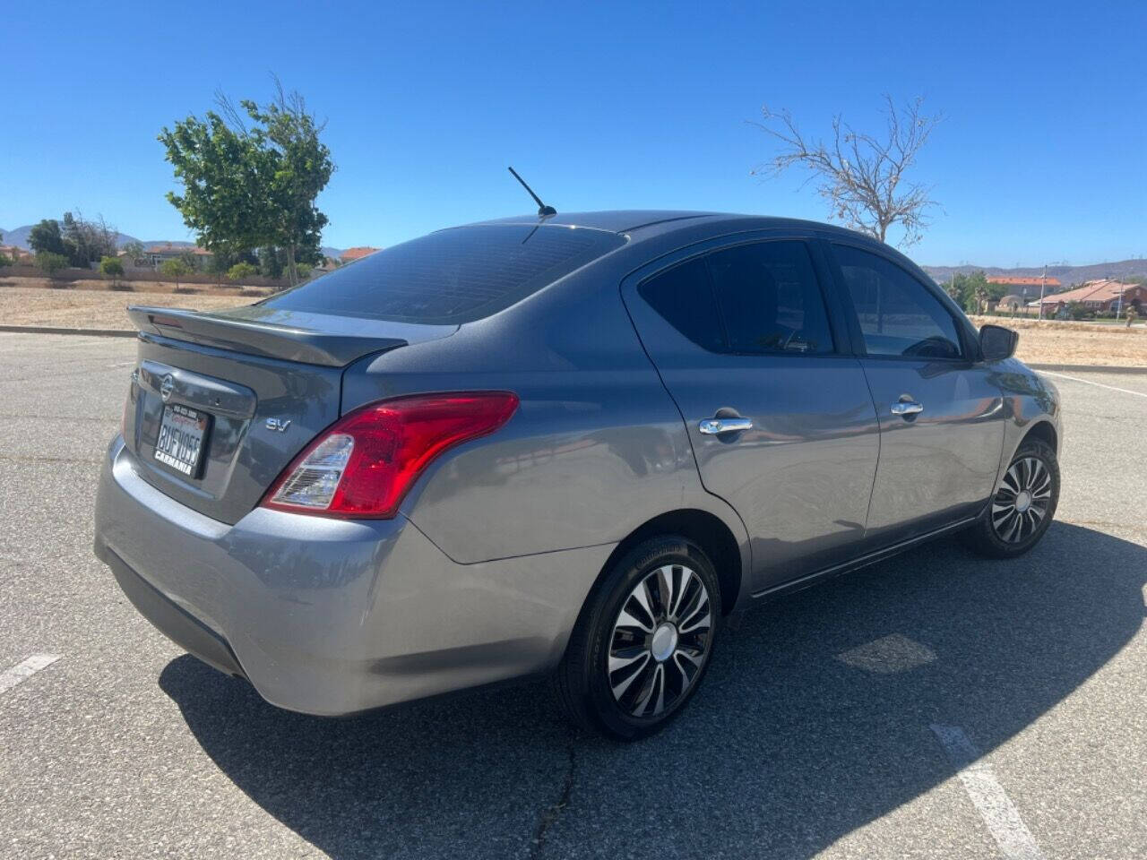
{"type": "Polygon", "coordinates": [[[834,249],[869,355],[960,358],[955,320],[927,287],[883,257],[834,249]]]}

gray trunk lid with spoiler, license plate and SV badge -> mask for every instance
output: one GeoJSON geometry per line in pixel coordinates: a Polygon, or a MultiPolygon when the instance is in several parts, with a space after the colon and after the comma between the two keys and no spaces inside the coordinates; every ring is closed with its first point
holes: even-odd
{"type": "Polygon", "coordinates": [[[223,313],[130,307],[128,315],[140,330],[124,422],[136,471],[225,523],[245,516],[338,419],[348,365],[458,329],[258,306],[223,313]]]}

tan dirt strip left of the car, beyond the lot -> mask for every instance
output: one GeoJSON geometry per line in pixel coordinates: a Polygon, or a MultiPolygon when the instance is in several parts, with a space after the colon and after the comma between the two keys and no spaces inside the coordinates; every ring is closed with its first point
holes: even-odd
{"type": "Polygon", "coordinates": [[[53,290],[33,287],[2,287],[0,322],[7,326],[63,326],[75,328],[132,329],[127,305],[159,305],[211,311],[258,302],[259,296],[174,295],[166,292],[111,292],[108,290],[53,290]]]}

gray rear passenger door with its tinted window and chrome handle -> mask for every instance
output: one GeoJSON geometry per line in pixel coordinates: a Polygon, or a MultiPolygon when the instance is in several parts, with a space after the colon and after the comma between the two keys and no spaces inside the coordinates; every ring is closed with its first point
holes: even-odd
{"type": "Polygon", "coordinates": [[[751,535],[754,591],[864,538],[877,423],[826,274],[816,243],[762,237],[679,252],[623,284],[705,488],[751,535]]]}

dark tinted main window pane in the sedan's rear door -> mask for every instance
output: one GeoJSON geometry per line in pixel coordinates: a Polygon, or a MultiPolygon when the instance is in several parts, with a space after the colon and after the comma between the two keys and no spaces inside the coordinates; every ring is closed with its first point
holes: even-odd
{"type": "Polygon", "coordinates": [[[825,299],[804,242],[759,242],[709,256],[731,352],[832,352],[825,299]]]}

